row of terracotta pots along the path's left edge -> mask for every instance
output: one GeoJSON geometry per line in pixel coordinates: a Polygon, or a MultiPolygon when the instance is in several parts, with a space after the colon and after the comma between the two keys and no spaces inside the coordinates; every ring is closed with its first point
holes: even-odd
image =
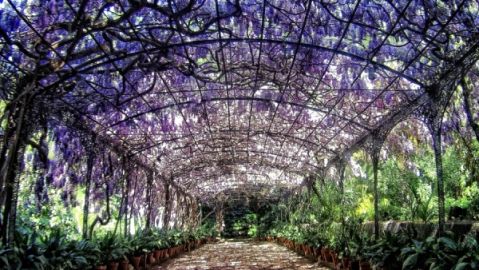
{"type": "Polygon", "coordinates": [[[131,256],[130,260],[109,262],[108,267],[105,265],[97,266],[96,270],[129,270],[130,264],[135,270],[141,269],[141,267],[147,268],[147,266],[160,264],[166,261],[168,258],[176,257],[183,252],[189,252],[213,241],[215,241],[213,238],[192,240],[182,245],[154,250],[140,256],[131,256]]]}

